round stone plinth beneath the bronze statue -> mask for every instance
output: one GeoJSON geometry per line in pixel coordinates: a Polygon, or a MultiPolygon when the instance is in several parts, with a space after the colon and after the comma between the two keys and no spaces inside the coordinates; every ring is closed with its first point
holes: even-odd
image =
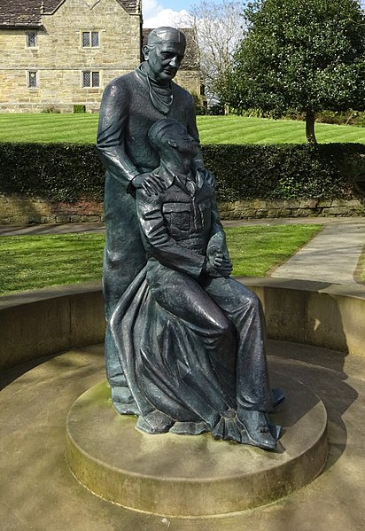
{"type": "Polygon", "coordinates": [[[74,402],[66,458],[98,496],[162,516],[209,516],[268,504],[306,485],[327,458],[327,414],[298,381],[274,375],[287,396],[271,419],[283,426],[276,452],[203,435],[149,435],[114,409],[106,382],[74,402]]]}

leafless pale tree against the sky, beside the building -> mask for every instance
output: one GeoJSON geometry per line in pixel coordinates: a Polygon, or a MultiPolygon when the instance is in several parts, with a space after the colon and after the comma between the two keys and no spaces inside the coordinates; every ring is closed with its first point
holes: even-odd
{"type": "Polygon", "coordinates": [[[201,0],[190,8],[188,20],[178,20],[180,27],[192,27],[200,57],[202,81],[208,103],[217,99],[217,86],[224,76],[242,37],[243,2],[201,0]]]}

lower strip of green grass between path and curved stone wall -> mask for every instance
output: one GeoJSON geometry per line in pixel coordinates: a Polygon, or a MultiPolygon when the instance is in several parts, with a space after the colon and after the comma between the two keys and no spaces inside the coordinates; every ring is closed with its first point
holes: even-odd
{"type": "MultiPolygon", "coordinates": [[[[226,229],[236,276],[264,276],[321,230],[320,225],[226,229]]],[[[0,294],[100,280],[104,234],[0,238],[0,294]]]]}

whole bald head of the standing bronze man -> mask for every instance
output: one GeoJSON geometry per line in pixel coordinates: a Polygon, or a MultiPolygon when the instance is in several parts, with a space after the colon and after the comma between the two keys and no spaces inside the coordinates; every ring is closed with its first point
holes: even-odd
{"type": "Polygon", "coordinates": [[[185,35],[175,27],[153,29],[143,48],[149,77],[156,82],[171,81],[181,65],[185,46],[185,35]]]}

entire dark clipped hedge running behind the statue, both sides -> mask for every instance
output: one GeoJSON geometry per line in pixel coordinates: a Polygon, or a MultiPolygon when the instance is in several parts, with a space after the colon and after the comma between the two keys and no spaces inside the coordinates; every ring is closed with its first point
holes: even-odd
{"type": "MultiPolygon", "coordinates": [[[[364,144],[207,144],[203,152],[206,168],[217,177],[218,199],[224,201],[351,199],[356,176],[363,183],[364,144]]],[[[92,144],[0,143],[4,194],[68,202],[102,199],[104,174],[92,144]]]]}

